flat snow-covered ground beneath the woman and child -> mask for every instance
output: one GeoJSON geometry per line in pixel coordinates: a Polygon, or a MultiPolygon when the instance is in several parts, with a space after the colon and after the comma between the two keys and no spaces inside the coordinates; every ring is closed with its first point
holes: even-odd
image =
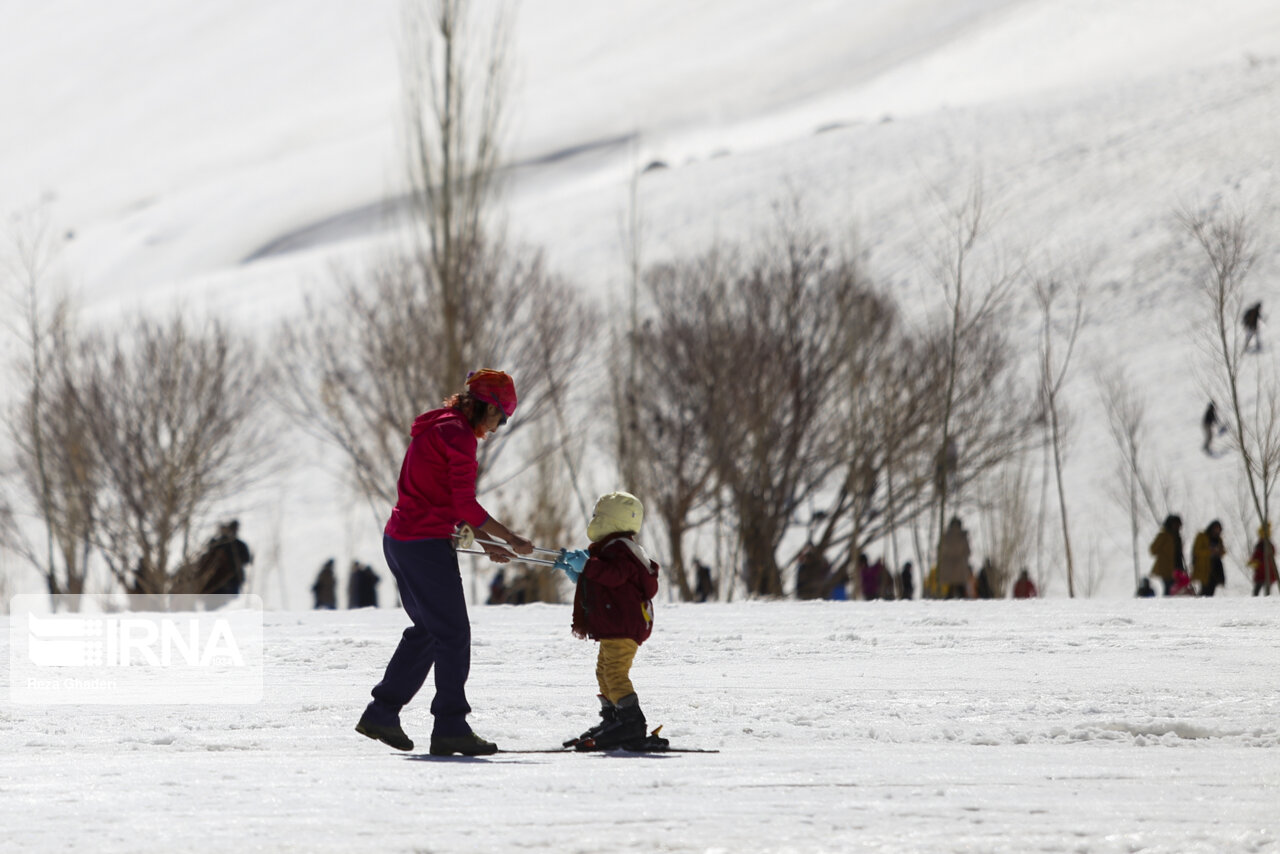
{"type": "MultiPolygon", "coordinates": [[[[0,661],[9,626],[0,621],[0,661]]],[[[403,615],[266,613],[264,702],[5,705],[0,850],[1280,849],[1280,613],[1263,599],[660,606],[632,677],[716,754],[399,754],[352,726],[403,615]]],[[[472,609],[472,725],[594,718],[566,606],[472,609]]]]}

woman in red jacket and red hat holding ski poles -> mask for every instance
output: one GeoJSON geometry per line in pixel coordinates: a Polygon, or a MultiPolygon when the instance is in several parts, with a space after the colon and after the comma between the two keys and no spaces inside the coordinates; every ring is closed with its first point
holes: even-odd
{"type": "MultiPolygon", "coordinates": [[[[383,531],[387,566],[399,585],[401,602],[413,620],[404,630],[374,700],[356,731],[398,750],[413,743],[401,729],[399,712],[435,668],[431,714],[434,755],[483,755],[498,746],[471,731],[466,682],[471,670],[471,622],[453,531],[466,522],[488,538],[504,540],[517,554],[532,543],[512,533],[476,501],[476,447],[516,411],[516,385],[502,371],[480,370],[466,391],[413,421],[408,449],[396,484],[397,499],[383,531]]],[[[485,547],[506,562],[506,552],[485,547]]]]}

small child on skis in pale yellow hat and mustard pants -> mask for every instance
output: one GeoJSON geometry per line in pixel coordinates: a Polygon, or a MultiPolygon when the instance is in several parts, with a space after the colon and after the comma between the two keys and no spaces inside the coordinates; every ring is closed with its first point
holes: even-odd
{"type": "Polygon", "coordinates": [[[612,492],[595,502],[586,526],[589,549],[566,551],[556,562],[577,584],[573,634],[600,643],[595,680],[600,722],[564,746],[579,750],[613,748],[663,749],[666,739],[646,736],[645,717],[631,685],[631,662],[653,631],[653,597],[658,565],[636,543],[644,506],[635,495],[612,492]]]}

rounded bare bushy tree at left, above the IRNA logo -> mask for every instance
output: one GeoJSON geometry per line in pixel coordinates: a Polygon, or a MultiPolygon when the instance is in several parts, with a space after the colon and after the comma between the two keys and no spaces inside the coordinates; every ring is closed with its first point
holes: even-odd
{"type": "Polygon", "coordinates": [[[195,529],[273,451],[253,347],[216,321],[140,319],[86,339],[63,379],[100,472],[93,539],[108,568],[133,592],[204,592],[183,568],[195,529]]]}

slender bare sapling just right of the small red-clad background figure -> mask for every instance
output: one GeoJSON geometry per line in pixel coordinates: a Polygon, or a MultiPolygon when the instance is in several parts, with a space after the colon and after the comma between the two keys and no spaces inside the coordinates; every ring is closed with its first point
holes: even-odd
{"type": "Polygon", "coordinates": [[[1062,460],[1069,435],[1069,412],[1062,403],[1062,385],[1071,369],[1071,355],[1084,324],[1084,288],[1075,280],[1056,275],[1036,280],[1036,302],[1041,310],[1039,399],[1043,406],[1044,430],[1053,452],[1053,480],[1057,485],[1057,507],[1062,521],[1062,552],[1066,561],[1066,593],[1075,598],[1075,562],[1071,556],[1071,529],[1068,522],[1066,489],[1062,485],[1062,460]],[[1055,323],[1053,309],[1062,296],[1070,300],[1065,324],[1055,323]]]}

